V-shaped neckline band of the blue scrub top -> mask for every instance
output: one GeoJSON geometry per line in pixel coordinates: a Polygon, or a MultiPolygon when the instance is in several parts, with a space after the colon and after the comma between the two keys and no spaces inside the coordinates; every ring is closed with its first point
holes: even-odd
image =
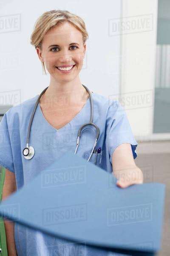
{"type": "MultiPolygon", "coordinates": [[[[93,93],[93,94],[94,94],[94,93],[93,93]]],[[[47,123],[47,125],[48,125],[49,127],[51,127],[53,130],[59,132],[59,131],[61,131],[62,129],[65,129],[68,125],[71,125],[71,123],[74,122],[74,120],[76,120],[76,119],[82,114],[82,112],[83,112],[83,111],[85,110],[85,108],[87,107],[89,101],[90,101],[90,97],[88,97],[88,99],[87,99],[86,102],[85,102],[85,105],[82,107],[82,109],[79,111],[79,113],[77,113],[77,115],[74,116],[74,118],[71,119],[70,122],[68,122],[66,125],[62,126],[62,127],[59,128],[59,129],[54,128],[54,127],[47,121],[47,119],[45,118],[44,114],[42,113],[42,110],[41,110],[41,107],[40,107],[40,102],[39,102],[38,105],[37,105],[37,109],[38,109],[38,111],[40,112],[40,115],[41,115],[42,119],[47,123]]],[[[89,119],[90,119],[90,114],[89,114],[89,119]]]]}

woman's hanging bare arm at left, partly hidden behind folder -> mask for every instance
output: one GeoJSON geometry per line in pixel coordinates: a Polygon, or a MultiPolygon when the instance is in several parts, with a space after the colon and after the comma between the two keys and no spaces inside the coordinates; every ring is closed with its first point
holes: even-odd
{"type": "MultiPolygon", "coordinates": [[[[6,169],[5,180],[3,184],[2,200],[6,199],[11,193],[16,190],[15,175],[6,169]]],[[[17,250],[14,240],[14,222],[4,219],[4,226],[6,230],[6,244],[8,256],[17,256],[17,250]]]]}

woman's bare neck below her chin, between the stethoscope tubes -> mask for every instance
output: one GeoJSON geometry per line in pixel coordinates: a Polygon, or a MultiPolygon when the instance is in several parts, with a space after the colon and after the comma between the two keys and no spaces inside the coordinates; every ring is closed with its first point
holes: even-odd
{"type": "Polygon", "coordinates": [[[50,85],[40,99],[40,103],[53,102],[55,105],[73,105],[86,102],[89,98],[88,92],[79,79],[69,82],[57,82],[50,80],[50,85]]]}

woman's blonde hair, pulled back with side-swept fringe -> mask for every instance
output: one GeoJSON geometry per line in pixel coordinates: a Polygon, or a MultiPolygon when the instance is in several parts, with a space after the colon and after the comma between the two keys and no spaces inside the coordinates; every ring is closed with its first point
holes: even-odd
{"type": "MultiPolygon", "coordinates": [[[[85,44],[88,39],[88,32],[85,27],[85,22],[81,17],[68,12],[66,10],[51,10],[44,12],[36,21],[34,25],[34,31],[31,34],[31,44],[35,47],[42,49],[42,40],[44,35],[49,29],[61,24],[63,22],[71,23],[75,28],[77,28],[82,33],[82,41],[85,44]]],[[[42,69],[45,71],[45,64],[42,62],[42,69]]],[[[45,71],[46,74],[46,71],[45,71]]]]}

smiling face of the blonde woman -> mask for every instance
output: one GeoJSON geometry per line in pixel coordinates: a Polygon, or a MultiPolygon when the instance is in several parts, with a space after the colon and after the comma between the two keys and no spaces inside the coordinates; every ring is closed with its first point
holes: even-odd
{"type": "MultiPolygon", "coordinates": [[[[42,49],[37,54],[56,81],[74,80],[83,65],[86,45],[82,33],[72,24],[65,22],[51,28],[42,40],[42,49]],[[73,66],[71,70],[60,71],[58,67],[73,66]]],[[[70,68],[70,67],[69,67],[70,68]]]]}

